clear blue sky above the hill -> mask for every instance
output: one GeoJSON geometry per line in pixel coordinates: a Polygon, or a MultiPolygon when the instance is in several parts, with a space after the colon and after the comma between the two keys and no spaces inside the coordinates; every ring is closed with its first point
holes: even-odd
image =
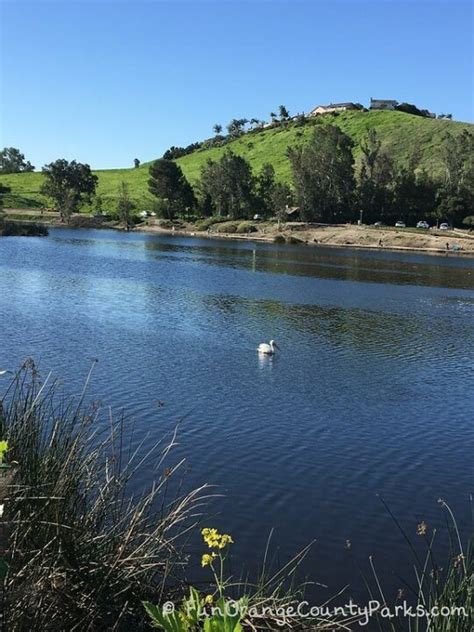
{"type": "Polygon", "coordinates": [[[233,117],[394,98],[473,120],[470,0],[0,0],[1,146],[128,167],[233,117]]]}

